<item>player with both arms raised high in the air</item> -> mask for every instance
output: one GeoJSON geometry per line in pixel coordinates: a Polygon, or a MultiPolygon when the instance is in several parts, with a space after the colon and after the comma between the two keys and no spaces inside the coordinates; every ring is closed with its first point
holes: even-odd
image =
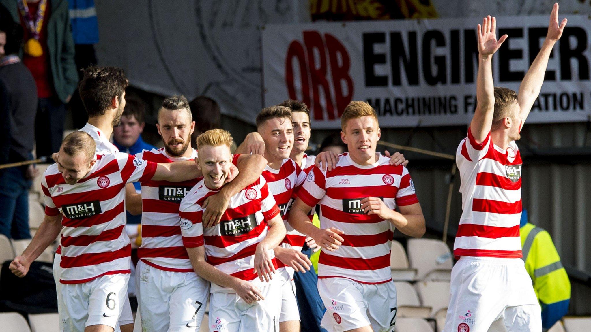
{"type": "Polygon", "coordinates": [[[462,185],[447,332],[541,331],[540,305],[521,258],[522,161],[515,141],[540,93],[552,47],[560,38],[558,4],[544,44],[519,86],[519,93],[493,87],[496,19],[478,25],[478,107],[460,142],[456,162],[462,185]]]}

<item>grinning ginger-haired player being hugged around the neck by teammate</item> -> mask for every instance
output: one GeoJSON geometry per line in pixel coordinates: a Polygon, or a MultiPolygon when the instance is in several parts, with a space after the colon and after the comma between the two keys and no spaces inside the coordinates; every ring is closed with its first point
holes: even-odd
{"type": "Polygon", "coordinates": [[[202,223],[204,201],[225,185],[231,145],[230,133],[221,129],[197,137],[204,178],[181,201],[183,243],[195,272],[212,282],[210,331],[277,331],[281,289],[272,249],[285,226],[265,179],[233,195],[219,224],[202,223]]]}

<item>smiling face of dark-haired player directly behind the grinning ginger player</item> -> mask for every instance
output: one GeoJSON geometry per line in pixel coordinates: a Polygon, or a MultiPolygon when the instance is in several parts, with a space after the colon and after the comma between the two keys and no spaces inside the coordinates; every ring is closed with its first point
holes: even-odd
{"type": "Polygon", "coordinates": [[[294,129],[289,118],[268,119],[257,129],[265,141],[265,158],[277,162],[289,158],[294,143],[294,129]]]}

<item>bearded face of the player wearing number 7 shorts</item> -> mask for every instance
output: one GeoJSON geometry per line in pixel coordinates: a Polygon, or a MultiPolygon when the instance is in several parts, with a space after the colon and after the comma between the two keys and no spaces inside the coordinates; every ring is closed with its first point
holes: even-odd
{"type": "Polygon", "coordinates": [[[195,130],[195,122],[191,121],[189,110],[160,109],[158,113],[158,134],[162,136],[164,149],[170,157],[189,157],[187,151],[191,144],[191,134],[195,130]]]}

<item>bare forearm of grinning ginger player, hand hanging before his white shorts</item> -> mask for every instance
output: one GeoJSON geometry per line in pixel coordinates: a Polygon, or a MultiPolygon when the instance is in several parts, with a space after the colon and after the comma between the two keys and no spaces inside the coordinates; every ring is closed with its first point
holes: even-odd
{"type": "Polygon", "coordinates": [[[213,282],[216,285],[234,289],[236,294],[248,304],[258,300],[265,300],[261,291],[255,285],[235,276],[225,274],[208,263],[205,258],[205,246],[187,248],[187,253],[189,254],[189,260],[191,261],[193,270],[201,278],[213,282]]]}

